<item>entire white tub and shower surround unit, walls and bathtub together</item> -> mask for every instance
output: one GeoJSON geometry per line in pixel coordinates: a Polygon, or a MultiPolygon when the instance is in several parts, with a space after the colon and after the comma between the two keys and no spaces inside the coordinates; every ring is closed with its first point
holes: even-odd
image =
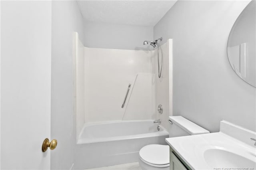
{"type": "Polygon", "coordinates": [[[75,168],[136,162],[143,146],[165,144],[172,115],[172,40],[162,45],[160,79],[156,50],[88,48],[77,33],[74,49],[75,168]],[[121,108],[128,84],[130,91],[121,108]],[[159,102],[162,115],[156,111],[159,102]],[[155,119],[162,119],[159,131],[152,123],[155,119]]]}

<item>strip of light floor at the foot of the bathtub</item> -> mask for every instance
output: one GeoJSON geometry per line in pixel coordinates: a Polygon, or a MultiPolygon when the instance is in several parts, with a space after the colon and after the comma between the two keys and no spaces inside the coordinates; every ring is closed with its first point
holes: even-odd
{"type": "Polygon", "coordinates": [[[105,166],[101,168],[93,168],[88,170],[142,170],[139,166],[138,162],[133,162],[129,164],[121,164],[121,165],[114,165],[114,166],[105,166]]]}

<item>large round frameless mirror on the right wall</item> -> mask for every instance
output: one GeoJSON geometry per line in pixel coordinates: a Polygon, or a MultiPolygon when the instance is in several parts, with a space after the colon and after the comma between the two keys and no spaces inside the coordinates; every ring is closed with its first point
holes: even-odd
{"type": "Polygon", "coordinates": [[[236,74],[256,87],[256,1],[236,19],[228,37],[228,60],[236,74]]]}

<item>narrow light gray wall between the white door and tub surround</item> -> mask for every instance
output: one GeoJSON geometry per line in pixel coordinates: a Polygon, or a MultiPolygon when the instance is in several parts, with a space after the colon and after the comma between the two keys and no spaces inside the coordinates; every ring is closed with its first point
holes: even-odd
{"type": "Polygon", "coordinates": [[[73,32],[83,41],[83,18],[76,1],[52,1],[51,169],[70,169],[76,144],[73,113],[73,32]]]}

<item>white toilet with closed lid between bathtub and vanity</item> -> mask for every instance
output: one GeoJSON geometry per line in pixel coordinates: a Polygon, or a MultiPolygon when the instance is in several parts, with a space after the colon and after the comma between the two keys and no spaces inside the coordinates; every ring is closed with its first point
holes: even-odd
{"type": "MultiPolygon", "coordinates": [[[[169,117],[169,137],[210,133],[182,116],[169,117]]],[[[168,145],[149,144],[140,149],[139,164],[142,170],[169,170],[170,149],[168,145]]]]}

